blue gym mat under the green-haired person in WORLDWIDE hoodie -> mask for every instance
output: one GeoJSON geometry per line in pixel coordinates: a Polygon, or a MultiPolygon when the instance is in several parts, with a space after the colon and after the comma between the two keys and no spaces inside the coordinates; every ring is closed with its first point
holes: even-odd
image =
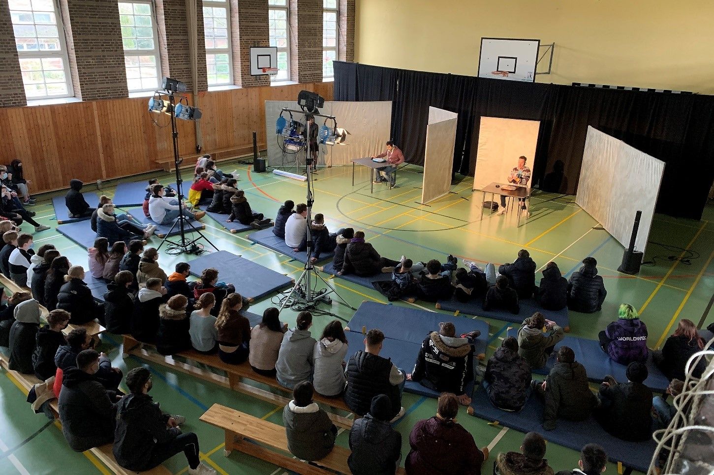
{"type": "MultiPolygon", "coordinates": [[[[509,328],[506,332],[509,337],[517,337],[518,329],[509,328]]],[[[550,359],[545,367],[534,369],[536,374],[548,374],[550,369],[553,369],[555,357],[558,354],[558,348],[569,347],[575,352],[575,361],[583,364],[585,371],[588,372],[588,379],[592,382],[603,382],[606,375],[614,377],[618,382],[627,382],[625,372],[627,367],[624,364],[616,363],[608,354],[600,348],[600,342],[594,339],[585,339],[579,337],[565,337],[563,340],[555,344],[553,353],[550,354],[550,359]]],[[[648,377],[645,379],[645,386],[655,391],[664,392],[669,386],[669,379],[660,371],[655,362],[652,360],[652,352],[647,358],[648,377]]]]}

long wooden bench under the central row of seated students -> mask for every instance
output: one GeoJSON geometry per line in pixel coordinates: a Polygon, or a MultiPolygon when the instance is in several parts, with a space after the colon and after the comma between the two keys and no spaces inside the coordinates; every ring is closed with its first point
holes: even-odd
{"type": "MultiPolygon", "coordinates": [[[[161,364],[166,367],[176,369],[176,371],[190,374],[191,376],[203,379],[204,381],[211,382],[213,384],[218,384],[222,387],[227,387],[228,389],[233,389],[233,391],[241,392],[251,397],[261,399],[276,406],[286,406],[290,402],[291,398],[281,396],[280,394],[273,394],[272,392],[266,391],[259,387],[251,386],[251,384],[246,384],[242,379],[249,379],[253,382],[258,382],[261,384],[266,384],[266,386],[280,389],[283,392],[291,392],[290,389],[282,387],[275,378],[266,377],[253,371],[251,365],[248,362],[242,364],[228,364],[221,361],[216,354],[202,354],[194,350],[188,350],[186,352],[178,353],[178,356],[192,359],[193,361],[201,364],[205,364],[208,367],[215,369],[221,369],[221,371],[226,372],[227,376],[221,376],[220,374],[215,374],[210,371],[205,371],[203,369],[197,368],[191,364],[182,363],[176,361],[173,357],[163,356],[161,354],[150,352],[143,348],[144,344],[136,341],[133,337],[129,335],[124,335],[124,355],[132,354],[141,359],[146,359],[149,362],[154,362],[161,364]]],[[[313,399],[316,402],[321,402],[333,407],[335,409],[340,409],[342,411],[351,412],[347,407],[342,398],[330,398],[322,397],[315,394],[313,399]]],[[[344,429],[350,429],[352,427],[353,419],[348,417],[343,417],[338,414],[329,414],[332,422],[344,429]]]]}

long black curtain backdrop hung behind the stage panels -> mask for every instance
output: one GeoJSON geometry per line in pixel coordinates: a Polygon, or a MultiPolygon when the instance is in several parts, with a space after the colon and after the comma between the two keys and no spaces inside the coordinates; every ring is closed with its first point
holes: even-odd
{"type": "Polygon", "coordinates": [[[408,163],[424,163],[429,106],[458,113],[453,171],[463,175],[476,168],[481,116],[540,121],[535,157],[529,160],[533,183],[542,183],[561,160],[560,192],[572,195],[593,126],[666,163],[658,213],[702,216],[714,180],[714,96],[523,83],[342,61],[334,66],[335,101],[393,101],[391,138],[408,163]]]}

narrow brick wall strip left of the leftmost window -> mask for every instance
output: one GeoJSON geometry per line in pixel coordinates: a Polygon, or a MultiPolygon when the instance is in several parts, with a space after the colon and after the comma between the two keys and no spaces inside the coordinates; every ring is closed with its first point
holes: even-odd
{"type": "Polygon", "coordinates": [[[7,1],[0,1],[0,107],[25,106],[25,88],[7,1]]]}

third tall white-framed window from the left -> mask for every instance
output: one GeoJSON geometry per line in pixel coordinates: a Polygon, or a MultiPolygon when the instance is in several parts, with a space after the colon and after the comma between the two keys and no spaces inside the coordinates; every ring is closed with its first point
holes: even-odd
{"type": "Polygon", "coordinates": [[[203,36],[206,37],[208,86],[232,84],[231,40],[228,35],[230,15],[228,1],[203,0],[203,36]]]}

